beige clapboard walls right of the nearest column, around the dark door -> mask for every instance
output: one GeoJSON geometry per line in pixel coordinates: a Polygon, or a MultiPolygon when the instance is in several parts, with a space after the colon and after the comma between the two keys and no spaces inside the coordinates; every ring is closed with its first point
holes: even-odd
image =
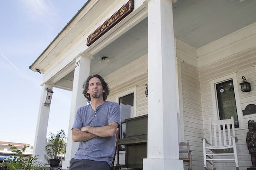
{"type": "MultiPolygon", "coordinates": [[[[230,75],[233,75],[236,84],[237,109],[241,118],[240,128],[236,128],[239,169],[246,170],[252,165],[246,146],[246,133],[247,121],[256,121],[256,114],[242,115],[242,110],[248,104],[256,105],[256,41],[252,37],[256,37],[256,23],[199,49],[180,40],[175,41],[177,62],[180,62],[178,67],[181,70],[180,73],[178,71],[178,82],[181,82],[179,88],[182,88],[179,92],[182,97],[180,115],[183,115],[184,140],[191,145],[193,169],[203,167],[200,138],[209,137],[209,119],[218,117],[211,83],[230,75]],[[250,93],[241,91],[239,83],[242,82],[242,76],[251,83],[250,93]]],[[[220,170],[227,169],[227,166],[235,167],[232,161],[215,165],[219,165],[217,168],[220,170]]]]}

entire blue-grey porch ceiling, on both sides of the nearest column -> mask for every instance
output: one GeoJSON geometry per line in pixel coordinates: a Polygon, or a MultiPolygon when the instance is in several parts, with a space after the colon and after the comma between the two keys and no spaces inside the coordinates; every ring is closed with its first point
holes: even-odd
{"type": "MultiPolygon", "coordinates": [[[[255,8],[256,0],[178,0],[173,4],[175,38],[200,48],[255,23],[255,8]]],[[[105,77],[144,54],[147,54],[147,18],[94,54],[90,74],[105,77]],[[110,59],[108,65],[99,63],[104,56],[110,59]]],[[[72,79],[70,74],[67,76],[64,79],[72,79]]]]}

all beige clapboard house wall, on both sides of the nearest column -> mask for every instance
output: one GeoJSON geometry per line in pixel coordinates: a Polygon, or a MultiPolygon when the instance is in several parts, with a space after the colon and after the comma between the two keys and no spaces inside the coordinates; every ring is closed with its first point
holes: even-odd
{"type": "MultiPolygon", "coordinates": [[[[250,36],[255,36],[252,29],[256,24],[243,28],[216,42],[212,42],[200,49],[195,49],[180,40],[175,40],[177,57],[177,82],[180,103],[180,139],[189,142],[192,150],[193,169],[203,169],[203,148],[201,137],[209,136],[209,119],[216,118],[215,102],[211,83],[221,77],[235,75],[236,96],[240,113],[240,128],[236,128],[236,136],[239,156],[239,169],[246,170],[251,166],[250,154],[246,146],[247,121],[256,121],[256,114],[242,115],[242,110],[248,104],[256,104],[256,42],[250,36]],[[250,36],[246,33],[250,32],[250,36]],[[242,36],[244,35],[244,37],[242,36]],[[245,39],[247,41],[245,41],[245,39]],[[229,43],[227,43],[229,42],[229,43]],[[248,45],[246,45],[246,44],[248,45]],[[236,47],[239,47],[237,52],[236,47]],[[214,49],[214,50],[211,50],[214,49]],[[225,51],[225,54],[223,54],[225,51]],[[212,58],[213,57],[213,58],[212,58]],[[241,92],[239,83],[245,76],[251,83],[250,93],[241,92]]],[[[256,30],[256,29],[253,29],[256,30]]],[[[109,82],[111,93],[108,100],[117,102],[116,95],[136,88],[136,114],[147,114],[147,97],[145,96],[145,84],[147,84],[147,56],[140,57],[136,61],[115,71],[105,77],[109,82]]],[[[150,95],[150,94],[149,94],[150,95]]],[[[234,162],[219,164],[218,169],[227,169],[227,166],[235,167],[234,162]]]]}

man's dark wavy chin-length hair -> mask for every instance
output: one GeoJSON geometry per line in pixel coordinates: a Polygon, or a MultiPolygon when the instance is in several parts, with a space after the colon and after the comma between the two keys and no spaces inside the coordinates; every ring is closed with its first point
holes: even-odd
{"type": "Polygon", "coordinates": [[[87,78],[87,80],[84,82],[83,84],[83,94],[85,96],[85,98],[87,98],[87,102],[90,103],[91,102],[91,98],[90,98],[90,94],[87,93],[87,90],[89,90],[89,81],[90,79],[92,79],[93,77],[97,77],[98,79],[100,79],[100,82],[102,84],[103,90],[105,92],[103,92],[102,96],[103,96],[103,100],[106,101],[109,95],[109,87],[108,87],[108,83],[105,82],[105,80],[99,75],[99,74],[95,74],[93,76],[89,76],[87,78]]]}

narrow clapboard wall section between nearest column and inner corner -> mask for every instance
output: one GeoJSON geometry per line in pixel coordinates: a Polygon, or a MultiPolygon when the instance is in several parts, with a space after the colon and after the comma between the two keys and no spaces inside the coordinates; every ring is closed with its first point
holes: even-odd
{"type": "Polygon", "coordinates": [[[201,92],[198,68],[181,62],[181,79],[183,95],[184,139],[192,150],[193,169],[202,169],[202,142],[204,136],[201,92]]]}

